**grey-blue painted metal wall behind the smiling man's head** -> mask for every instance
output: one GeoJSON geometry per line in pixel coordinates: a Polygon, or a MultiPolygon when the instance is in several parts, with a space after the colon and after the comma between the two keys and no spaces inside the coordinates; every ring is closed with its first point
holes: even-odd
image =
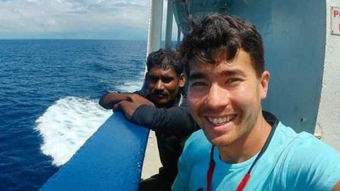
{"type": "MultiPolygon", "coordinates": [[[[263,108],[297,132],[314,132],[322,88],[326,1],[197,0],[190,1],[190,10],[199,18],[219,11],[254,23],[263,37],[266,69],[271,72],[263,108]]],[[[183,1],[175,1],[174,14],[180,28],[188,28],[183,1]]]]}

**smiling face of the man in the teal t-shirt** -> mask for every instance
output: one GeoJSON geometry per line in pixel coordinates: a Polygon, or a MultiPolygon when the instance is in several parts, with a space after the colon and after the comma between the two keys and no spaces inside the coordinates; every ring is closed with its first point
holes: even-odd
{"type": "Polygon", "coordinates": [[[259,125],[269,73],[256,76],[251,57],[242,49],[234,59],[216,61],[190,63],[187,101],[209,141],[229,146],[245,140],[259,125]]]}

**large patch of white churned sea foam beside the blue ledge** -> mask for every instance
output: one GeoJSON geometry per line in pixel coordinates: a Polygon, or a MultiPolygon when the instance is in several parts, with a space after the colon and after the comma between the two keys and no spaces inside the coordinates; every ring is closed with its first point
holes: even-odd
{"type": "Polygon", "coordinates": [[[66,97],[57,100],[35,121],[40,132],[43,154],[52,157],[52,164],[61,166],[91,137],[112,114],[98,100],[66,97]]]}

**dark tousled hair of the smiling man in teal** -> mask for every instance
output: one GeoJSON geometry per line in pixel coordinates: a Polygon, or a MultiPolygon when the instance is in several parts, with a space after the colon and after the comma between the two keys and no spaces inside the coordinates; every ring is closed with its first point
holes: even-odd
{"type": "Polygon", "coordinates": [[[183,38],[179,51],[189,74],[189,62],[215,64],[215,59],[233,59],[242,48],[250,54],[257,76],[264,71],[263,42],[254,25],[235,16],[213,13],[202,22],[188,19],[191,30],[183,38]]]}

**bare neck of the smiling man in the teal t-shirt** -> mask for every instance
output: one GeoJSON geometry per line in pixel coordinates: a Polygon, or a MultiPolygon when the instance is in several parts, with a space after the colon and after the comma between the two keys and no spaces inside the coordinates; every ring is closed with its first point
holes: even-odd
{"type": "Polygon", "coordinates": [[[261,151],[271,132],[271,125],[259,114],[254,127],[241,139],[229,146],[217,146],[222,161],[242,163],[261,151]]]}

